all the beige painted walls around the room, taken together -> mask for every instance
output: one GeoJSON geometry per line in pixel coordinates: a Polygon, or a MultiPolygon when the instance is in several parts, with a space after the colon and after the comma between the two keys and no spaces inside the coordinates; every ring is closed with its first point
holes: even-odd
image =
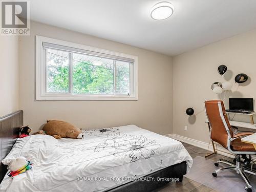
{"type": "MultiPolygon", "coordinates": [[[[175,56],[173,65],[172,57],[35,22],[30,36],[0,36],[0,42],[0,116],[23,109],[33,131],[46,119],[63,119],[85,129],[133,123],[159,134],[208,142],[203,101],[220,98],[211,91],[212,82],[233,83],[227,108],[228,97],[256,95],[256,30],[175,56]],[[36,101],[35,35],[137,55],[139,100],[36,101]],[[221,64],[228,67],[223,76],[217,72],[221,64]],[[250,77],[240,86],[234,83],[238,73],[250,77]],[[185,114],[188,107],[195,109],[194,116],[185,114]]],[[[249,121],[242,115],[234,119],[249,121]]]]}

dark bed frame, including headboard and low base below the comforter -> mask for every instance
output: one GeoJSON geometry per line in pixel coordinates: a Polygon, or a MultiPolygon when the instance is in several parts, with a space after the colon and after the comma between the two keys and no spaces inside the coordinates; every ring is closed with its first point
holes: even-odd
{"type": "MultiPolygon", "coordinates": [[[[0,157],[1,161],[11,151],[12,146],[16,142],[19,136],[19,127],[23,126],[23,111],[17,111],[0,118],[0,157]]],[[[7,173],[7,166],[0,163],[0,182],[2,182],[4,176],[7,173]]],[[[106,190],[109,192],[144,192],[152,191],[170,181],[159,181],[158,178],[169,178],[182,182],[183,175],[187,172],[186,162],[183,161],[179,164],[168,166],[157,172],[144,176],[143,180],[131,181],[118,187],[106,190]],[[154,179],[152,179],[154,178],[154,179]]]]}

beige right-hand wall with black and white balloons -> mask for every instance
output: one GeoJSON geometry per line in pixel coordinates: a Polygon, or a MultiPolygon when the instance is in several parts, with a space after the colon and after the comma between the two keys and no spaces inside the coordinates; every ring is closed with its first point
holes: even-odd
{"type": "MultiPolygon", "coordinates": [[[[256,30],[174,57],[173,78],[173,132],[208,142],[203,102],[220,98],[210,89],[212,82],[228,80],[233,83],[232,92],[226,98],[256,98],[256,30]],[[228,67],[223,76],[217,72],[221,64],[228,67]],[[234,83],[234,77],[239,73],[250,77],[240,86],[234,83]],[[186,115],[185,110],[189,107],[195,109],[194,116],[186,115]],[[184,131],[184,125],[188,125],[188,131],[184,131]]],[[[225,100],[228,108],[228,99],[225,100]]],[[[248,116],[242,115],[234,119],[249,121],[248,116]]]]}

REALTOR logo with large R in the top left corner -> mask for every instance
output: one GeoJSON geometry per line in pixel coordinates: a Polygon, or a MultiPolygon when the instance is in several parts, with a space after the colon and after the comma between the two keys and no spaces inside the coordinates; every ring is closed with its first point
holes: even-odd
{"type": "Polygon", "coordinates": [[[1,35],[29,35],[29,1],[1,1],[1,35]]]}

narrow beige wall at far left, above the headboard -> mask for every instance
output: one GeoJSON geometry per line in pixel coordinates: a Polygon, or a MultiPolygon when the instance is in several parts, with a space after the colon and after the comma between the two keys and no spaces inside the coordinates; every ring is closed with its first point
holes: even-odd
{"type": "Polygon", "coordinates": [[[0,36],[0,117],[18,110],[18,37],[0,36]]]}

